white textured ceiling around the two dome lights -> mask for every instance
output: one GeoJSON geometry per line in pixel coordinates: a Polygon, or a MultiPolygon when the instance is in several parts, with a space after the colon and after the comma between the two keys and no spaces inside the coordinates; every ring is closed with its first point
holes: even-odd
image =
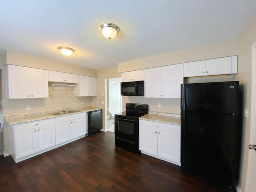
{"type": "Polygon", "coordinates": [[[6,50],[95,70],[120,62],[237,38],[256,0],[1,0],[6,50]],[[120,27],[111,40],[99,26],[120,27]],[[73,48],[64,56],[59,46],[73,48]]]}

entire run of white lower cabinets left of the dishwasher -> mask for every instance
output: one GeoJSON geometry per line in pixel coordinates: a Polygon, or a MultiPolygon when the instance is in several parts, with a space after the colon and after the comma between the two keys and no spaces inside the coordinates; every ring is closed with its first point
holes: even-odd
{"type": "Polygon", "coordinates": [[[10,126],[15,162],[31,158],[86,135],[85,112],[10,126]],[[65,143],[66,142],[66,143],[65,143]]]}

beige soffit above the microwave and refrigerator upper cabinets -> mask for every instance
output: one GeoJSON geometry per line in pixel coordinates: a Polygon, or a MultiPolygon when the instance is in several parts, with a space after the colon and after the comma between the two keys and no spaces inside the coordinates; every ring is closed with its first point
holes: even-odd
{"type": "Polygon", "coordinates": [[[118,72],[234,56],[237,54],[237,40],[234,39],[118,63],[118,72]]]}

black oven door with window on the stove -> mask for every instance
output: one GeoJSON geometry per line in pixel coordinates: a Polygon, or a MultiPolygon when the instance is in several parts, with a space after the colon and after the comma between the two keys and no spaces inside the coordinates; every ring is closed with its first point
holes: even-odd
{"type": "Polygon", "coordinates": [[[132,120],[128,118],[115,117],[115,136],[120,139],[129,141],[139,140],[139,124],[138,119],[132,120]]]}

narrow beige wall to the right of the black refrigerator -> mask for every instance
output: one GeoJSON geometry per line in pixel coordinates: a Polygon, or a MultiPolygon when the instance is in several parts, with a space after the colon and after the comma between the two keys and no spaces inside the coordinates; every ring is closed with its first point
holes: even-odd
{"type": "Polygon", "coordinates": [[[240,188],[242,192],[246,191],[246,174],[248,166],[248,145],[250,142],[250,117],[255,114],[251,112],[251,86],[252,86],[252,44],[256,42],[256,14],[252,17],[246,28],[238,37],[238,74],[235,80],[242,84],[243,108],[249,109],[249,118],[243,117],[243,154],[242,154],[242,173],[240,188]]]}

